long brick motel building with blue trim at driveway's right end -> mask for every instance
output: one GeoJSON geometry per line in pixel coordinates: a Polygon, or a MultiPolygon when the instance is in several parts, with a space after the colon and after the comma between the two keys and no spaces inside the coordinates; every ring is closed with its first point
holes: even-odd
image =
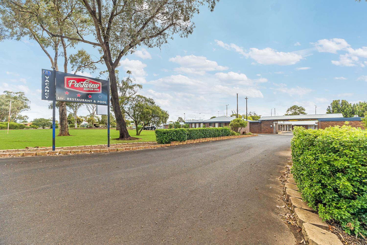
{"type": "Polygon", "coordinates": [[[257,121],[250,121],[251,133],[278,134],[291,133],[294,126],[305,129],[325,129],[329,126],[343,126],[345,122],[352,127],[364,129],[361,118],[355,115],[352,118],[344,118],[341,113],[335,114],[310,114],[291,116],[263,116],[257,121]]]}

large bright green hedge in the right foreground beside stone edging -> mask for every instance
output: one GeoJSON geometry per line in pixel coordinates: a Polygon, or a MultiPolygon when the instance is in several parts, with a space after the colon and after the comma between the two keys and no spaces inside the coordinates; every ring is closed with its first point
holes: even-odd
{"type": "Polygon", "coordinates": [[[302,198],[324,220],[367,235],[367,130],[295,127],[292,170],[302,198]]]}

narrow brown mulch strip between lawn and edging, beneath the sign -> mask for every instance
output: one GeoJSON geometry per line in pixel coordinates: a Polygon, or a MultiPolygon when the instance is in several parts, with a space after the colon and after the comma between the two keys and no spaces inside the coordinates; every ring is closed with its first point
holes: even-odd
{"type": "MultiPolygon", "coordinates": [[[[157,145],[157,144],[158,144],[157,142],[110,144],[110,148],[138,147],[138,146],[157,145]]],[[[107,148],[107,145],[81,145],[81,146],[74,146],[74,147],[56,147],[56,150],[57,151],[70,151],[70,150],[106,149],[106,148],[107,148]]],[[[32,151],[52,151],[52,148],[42,147],[42,148],[30,148],[30,149],[0,150],[0,153],[32,152],[32,151]]]]}

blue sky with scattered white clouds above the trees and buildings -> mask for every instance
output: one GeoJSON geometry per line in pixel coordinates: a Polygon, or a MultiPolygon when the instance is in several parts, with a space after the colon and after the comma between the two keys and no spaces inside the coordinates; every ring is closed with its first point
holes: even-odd
{"type": "MultiPolygon", "coordinates": [[[[367,3],[353,0],[220,1],[214,12],[202,8],[187,39],[175,36],[161,49],[139,46],[118,69],[132,71],[143,85],[139,93],[155,99],[172,120],[184,113],[186,119],[224,115],[226,104],[236,108],[236,93],[240,114],[246,96],[248,111],[263,116],[272,108],[283,115],[291,105],[314,114],[316,104],[317,113],[325,113],[334,99],[367,100],[366,9],[367,3]]],[[[40,100],[41,68],[50,68],[50,61],[33,40],[0,43],[1,88],[26,93],[31,110],[23,114],[30,119],[52,116],[40,100]]]]}

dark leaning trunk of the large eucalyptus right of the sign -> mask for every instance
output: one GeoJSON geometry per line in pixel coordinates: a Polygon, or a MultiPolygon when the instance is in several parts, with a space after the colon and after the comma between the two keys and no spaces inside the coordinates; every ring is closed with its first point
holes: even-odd
{"type": "Polygon", "coordinates": [[[119,138],[120,139],[129,138],[130,134],[127,131],[126,122],[121,113],[121,108],[120,108],[120,103],[119,103],[119,93],[117,92],[115,69],[113,69],[112,66],[108,64],[108,62],[106,62],[106,65],[108,67],[109,78],[110,78],[111,104],[113,107],[113,111],[115,112],[116,126],[119,125],[118,127],[120,130],[119,138]]]}

